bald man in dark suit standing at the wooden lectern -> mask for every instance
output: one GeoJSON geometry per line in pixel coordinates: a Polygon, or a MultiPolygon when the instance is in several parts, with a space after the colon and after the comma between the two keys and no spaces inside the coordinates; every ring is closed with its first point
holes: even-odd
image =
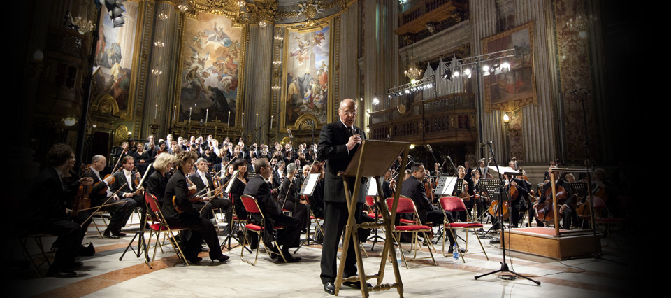
{"type": "MultiPolygon", "coordinates": [[[[366,136],[358,127],[354,127],[356,120],[356,101],[343,99],[338,108],[339,120],[324,125],[319,134],[317,159],[326,160],[326,177],[324,178],[324,227],[331,231],[324,235],[322,248],[322,283],[324,291],[335,294],[335,278],[337,277],[336,254],[342,230],[347,225],[349,210],[345,200],[345,190],[339,171],[345,171],[354,152],[359,148],[362,139],[366,136]],[[361,132],[361,134],[359,134],[361,132]]],[[[351,178],[348,185],[354,188],[355,178],[351,178]]],[[[363,181],[362,181],[363,182],[363,181]]],[[[363,184],[363,183],[362,183],[363,184]]],[[[361,209],[366,199],[366,187],[361,185],[358,201],[356,202],[356,222],[361,222],[361,209]]],[[[344,276],[356,275],[356,256],[354,255],[354,241],[350,239],[347,258],[345,260],[344,276]]],[[[356,248],[358,249],[358,248],[356,248]]],[[[343,285],[360,288],[359,282],[345,282],[343,285]]]]}

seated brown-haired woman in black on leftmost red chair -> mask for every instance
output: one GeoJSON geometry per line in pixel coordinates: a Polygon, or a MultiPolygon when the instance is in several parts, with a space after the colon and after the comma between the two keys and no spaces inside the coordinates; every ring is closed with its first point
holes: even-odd
{"type": "Polygon", "coordinates": [[[189,187],[185,172],[191,171],[198,155],[192,151],[182,151],[177,156],[176,171],[166,184],[164,204],[161,211],[168,225],[190,229],[191,237],[181,237],[180,246],[185,257],[191,263],[203,260],[198,256],[203,239],[210,248],[210,259],[224,262],[229,256],[222,253],[215,226],[210,220],[201,218],[189,198],[189,187]]]}

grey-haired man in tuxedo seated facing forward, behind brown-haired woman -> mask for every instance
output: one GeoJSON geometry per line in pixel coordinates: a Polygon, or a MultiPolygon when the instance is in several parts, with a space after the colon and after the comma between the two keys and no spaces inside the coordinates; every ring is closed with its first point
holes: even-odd
{"type": "MultiPolygon", "coordinates": [[[[208,149],[209,150],[209,149],[208,149]]],[[[202,209],[201,210],[201,216],[203,218],[207,218],[208,220],[214,219],[214,215],[212,214],[212,208],[217,208],[222,211],[224,211],[225,217],[226,217],[226,222],[231,222],[231,219],[233,218],[233,211],[231,209],[231,201],[229,199],[222,199],[221,194],[217,195],[217,197],[211,197],[215,193],[215,184],[214,180],[212,180],[212,176],[210,173],[208,173],[208,161],[207,159],[204,159],[203,157],[199,158],[196,160],[196,173],[192,173],[189,175],[189,180],[193,182],[196,185],[196,191],[201,192],[203,188],[208,188],[208,192],[203,194],[202,197],[204,197],[206,202],[199,202],[199,203],[194,203],[194,206],[196,208],[202,209]],[[203,208],[205,205],[210,205],[206,208],[203,208]]],[[[219,178],[215,178],[219,180],[219,178]]]]}

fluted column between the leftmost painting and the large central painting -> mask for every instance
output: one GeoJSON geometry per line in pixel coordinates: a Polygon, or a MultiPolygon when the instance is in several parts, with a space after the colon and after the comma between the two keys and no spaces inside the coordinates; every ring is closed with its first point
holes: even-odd
{"type": "Polygon", "coordinates": [[[147,87],[143,103],[142,129],[140,138],[151,134],[150,125],[156,120],[159,128],[156,139],[165,138],[167,126],[173,112],[173,101],[169,91],[173,89],[171,78],[175,76],[173,62],[179,47],[179,34],[175,34],[180,20],[179,10],[175,3],[159,1],[154,14],[154,37],[150,40],[150,63],[147,67],[147,87]],[[152,71],[161,74],[152,75],[152,71]]]}

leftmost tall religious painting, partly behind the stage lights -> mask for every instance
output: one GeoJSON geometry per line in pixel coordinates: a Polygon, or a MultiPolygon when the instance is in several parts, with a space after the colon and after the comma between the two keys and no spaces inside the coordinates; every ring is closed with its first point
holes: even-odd
{"type": "Polygon", "coordinates": [[[138,57],[138,10],[139,3],[136,1],[120,1],[124,10],[125,24],[115,28],[112,19],[105,6],[100,16],[98,34],[100,38],[96,43],[96,56],[94,58],[94,76],[92,83],[92,95],[95,102],[101,99],[110,99],[110,111],[113,115],[121,118],[131,118],[133,113],[134,99],[132,94],[135,88],[135,77],[137,74],[135,64],[138,57]]]}

